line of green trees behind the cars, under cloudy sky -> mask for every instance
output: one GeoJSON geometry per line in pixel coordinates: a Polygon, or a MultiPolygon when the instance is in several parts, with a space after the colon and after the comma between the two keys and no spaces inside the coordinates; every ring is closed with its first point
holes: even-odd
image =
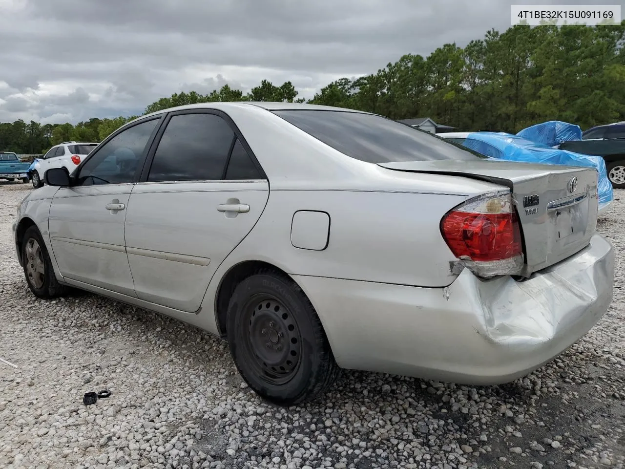
{"type": "MultiPolygon", "coordinates": [[[[145,113],[216,101],[288,101],[359,109],[391,119],[429,117],[459,130],[516,133],[557,119],[582,129],[625,120],[625,21],[616,26],[514,26],[427,57],[406,54],[376,73],[341,78],[314,98],[290,81],[262,80],[247,94],[230,86],[174,93],[145,113]]],[[[101,141],[136,116],[73,124],[0,123],[0,149],[37,153],[62,141],[101,141]]]]}

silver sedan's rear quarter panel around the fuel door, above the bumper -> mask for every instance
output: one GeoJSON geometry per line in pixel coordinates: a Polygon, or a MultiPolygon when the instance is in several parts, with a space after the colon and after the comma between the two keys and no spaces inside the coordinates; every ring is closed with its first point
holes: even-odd
{"type": "Polygon", "coordinates": [[[454,280],[449,263],[455,258],[439,224],[465,199],[391,191],[272,190],[258,223],[224,264],[261,260],[291,275],[447,286],[454,280]],[[291,223],[299,210],[329,214],[324,250],[291,244],[291,223]]]}

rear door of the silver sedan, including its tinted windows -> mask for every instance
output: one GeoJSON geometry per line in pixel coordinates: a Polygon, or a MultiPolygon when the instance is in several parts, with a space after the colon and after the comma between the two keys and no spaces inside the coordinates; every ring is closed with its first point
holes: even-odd
{"type": "Polygon", "coordinates": [[[159,134],[130,196],[126,250],[138,298],[190,313],[261,216],[269,184],[223,113],[172,113],[159,134]]]}

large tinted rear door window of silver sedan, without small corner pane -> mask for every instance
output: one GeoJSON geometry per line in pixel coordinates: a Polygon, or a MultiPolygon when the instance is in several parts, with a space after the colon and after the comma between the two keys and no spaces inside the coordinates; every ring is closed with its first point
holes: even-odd
{"type": "Polygon", "coordinates": [[[148,181],[221,179],[234,131],[214,114],[173,116],[158,144],[148,181]]]}

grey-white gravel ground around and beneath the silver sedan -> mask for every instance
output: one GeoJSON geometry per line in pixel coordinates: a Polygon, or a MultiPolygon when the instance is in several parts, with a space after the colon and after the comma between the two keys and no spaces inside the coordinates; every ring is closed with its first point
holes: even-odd
{"type": "Polygon", "coordinates": [[[2,468],[625,466],[625,191],[599,220],[612,306],[556,360],[504,386],[347,371],[325,402],[284,409],[191,326],[89,294],[36,300],[11,238],[28,190],[0,183],[0,358],[17,365],[0,362],[2,468]]]}

